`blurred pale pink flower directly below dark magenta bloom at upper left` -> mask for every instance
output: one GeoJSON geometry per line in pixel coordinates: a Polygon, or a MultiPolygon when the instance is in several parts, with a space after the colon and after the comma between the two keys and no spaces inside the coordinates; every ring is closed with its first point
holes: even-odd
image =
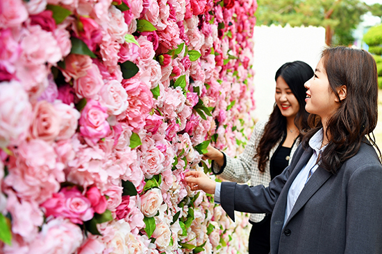
{"type": "Polygon", "coordinates": [[[61,49],[52,33],[40,26],[30,26],[23,37],[21,61],[24,65],[56,64],[63,57],[61,49]],[[41,42],[44,42],[43,44],[41,42]]]}

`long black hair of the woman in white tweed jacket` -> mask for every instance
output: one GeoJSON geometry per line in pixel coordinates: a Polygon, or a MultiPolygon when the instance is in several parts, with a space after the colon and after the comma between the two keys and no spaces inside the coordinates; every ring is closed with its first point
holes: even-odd
{"type": "MultiPolygon", "coordinates": [[[[279,70],[276,71],[274,77],[274,80],[282,77],[299,102],[300,109],[294,118],[294,124],[300,130],[299,138],[302,136],[301,130],[304,131],[308,129],[308,112],[305,110],[306,89],[304,83],[312,78],[313,74],[313,69],[308,64],[301,61],[294,61],[283,64],[279,70]]],[[[281,114],[279,107],[277,107],[275,103],[272,114],[269,116],[269,120],[264,127],[264,134],[256,147],[254,156],[254,158],[258,158],[258,170],[260,170],[260,172],[265,172],[265,163],[269,160],[269,151],[285,135],[285,130],[286,118],[281,114]]]]}

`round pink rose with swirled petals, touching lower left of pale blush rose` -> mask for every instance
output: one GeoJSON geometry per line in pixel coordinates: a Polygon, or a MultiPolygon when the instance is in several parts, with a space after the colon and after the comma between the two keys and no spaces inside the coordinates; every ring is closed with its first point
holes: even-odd
{"type": "Polygon", "coordinates": [[[110,132],[110,126],[106,121],[108,114],[96,100],[89,100],[81,113],[79,120],[80,133],[93,144],[99,139],[106,137],[110,132]]]}

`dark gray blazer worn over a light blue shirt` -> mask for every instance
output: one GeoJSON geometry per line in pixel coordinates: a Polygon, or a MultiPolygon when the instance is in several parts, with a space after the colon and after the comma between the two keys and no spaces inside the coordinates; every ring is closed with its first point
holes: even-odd
{"type": "Polygon", "coordinates": [[[222,208],[233,220],[233,210],[273,212],[271,254],[382,253],[382,166],[369,143],[337,174],[318,167],[283,225],[290,185],[312,154],[300,145],[268,188],[223,182],[222,208]]]}

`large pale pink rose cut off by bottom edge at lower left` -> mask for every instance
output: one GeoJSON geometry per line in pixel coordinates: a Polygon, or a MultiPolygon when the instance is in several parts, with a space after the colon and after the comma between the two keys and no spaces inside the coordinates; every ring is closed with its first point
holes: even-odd
{"type": "Polygon", "coordinates": [[[31,243],[31,253],[72,254],[83,242],[78,225],[63,219],[52,219],[42,226],[40,234],[31,243]]]}

